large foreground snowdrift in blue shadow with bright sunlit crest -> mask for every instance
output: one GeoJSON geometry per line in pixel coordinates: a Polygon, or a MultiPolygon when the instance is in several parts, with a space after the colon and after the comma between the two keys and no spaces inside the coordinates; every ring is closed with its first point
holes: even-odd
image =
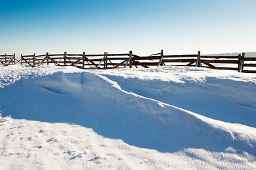
{"type": "Polygon", "coordinates": [[[255,155],[256,131],[212,120],[151,98],[127,92],[96,74],[63,73],[21,79],[0,89],[3,116],[92,128],[129,145],[177,152],[202,148],[255,155]]]}

